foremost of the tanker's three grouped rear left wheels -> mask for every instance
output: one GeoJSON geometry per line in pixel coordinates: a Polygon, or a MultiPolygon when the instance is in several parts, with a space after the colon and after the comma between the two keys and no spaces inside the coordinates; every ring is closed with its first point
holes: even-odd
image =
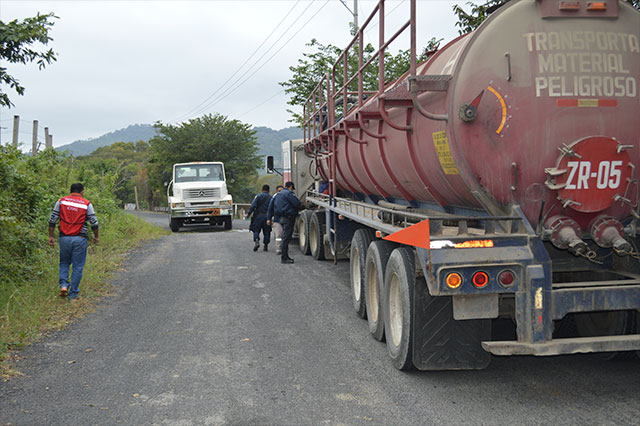
{"type": "Polygon", "coordinates": [[[365,261],[367,249],[375,238],[369,228],[357,229],[351,239],[351,252],[349,256],[349,278],[351,281],[351,301],[353,309],[360,318],[367,317],[367,304],[365,298],[365,261]]]}

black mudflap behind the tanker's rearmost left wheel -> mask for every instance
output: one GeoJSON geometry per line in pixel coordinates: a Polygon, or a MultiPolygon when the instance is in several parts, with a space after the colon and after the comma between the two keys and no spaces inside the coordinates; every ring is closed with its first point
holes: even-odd
{"type": "Polygon", "coordinates": [[[491,362],[482,341],[491,338],[491,320],[453,318],[450,296],[431,296],[417,279],[413,298],[413,365],[418,370],[481,370],[491,362]]]}

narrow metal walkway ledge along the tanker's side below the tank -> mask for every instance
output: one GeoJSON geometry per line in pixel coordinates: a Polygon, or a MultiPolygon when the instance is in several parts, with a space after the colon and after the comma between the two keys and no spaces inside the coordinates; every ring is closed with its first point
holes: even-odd
{"type": "Polygon", "coordinates": [[[423,214],[408,210],[395,210],[354,201],[342,197],[331,197],[308,191],[306,200],[314,205],[331,210],[345,218],[357,221],[385,234],[392,234],[403,228],[429,220],[430,236],[438,238],[514,237],[532,234],[520,216],[456,216],[448,213],[423,214]],[[510,223],[507,229],[501,226],[510,223]]]}

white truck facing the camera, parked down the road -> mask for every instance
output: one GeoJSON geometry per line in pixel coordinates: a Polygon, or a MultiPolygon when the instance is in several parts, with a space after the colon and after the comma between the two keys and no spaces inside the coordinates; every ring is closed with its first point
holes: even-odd
{"type": "Polygon", "coordinates": [[[173,179],[167,185],[167,199],[169,227],[173,232],[189,223],[232,227],[233,200],[227,191],[221,162],[174,164],[173,179]]]}

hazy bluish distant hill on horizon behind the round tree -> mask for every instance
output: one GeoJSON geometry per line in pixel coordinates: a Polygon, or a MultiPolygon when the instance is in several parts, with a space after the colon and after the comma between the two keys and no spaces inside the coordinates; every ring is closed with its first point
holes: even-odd
{"type": "MultiPolygon", "coordinates": [[[[298,139],[302,137],[302,129],[299,127],[287,127],[281,130],[273,130],[268,127],[255,127],[256,137],[260,149],[258,155],[273,155],[276,164],[280,159],[280,143],[287,139],[298,139]]],[[[151,124],[132,124],[124,129],[106,133],[98,138],[85,139],[72,142],[67,145],[57,147],[58,151],[69,151],[75,156],[89,155],[93,151],[103,146],[111,145],[115,142],[138,142],[148,141],[156,136],[156,129],[151,124]]]]}

